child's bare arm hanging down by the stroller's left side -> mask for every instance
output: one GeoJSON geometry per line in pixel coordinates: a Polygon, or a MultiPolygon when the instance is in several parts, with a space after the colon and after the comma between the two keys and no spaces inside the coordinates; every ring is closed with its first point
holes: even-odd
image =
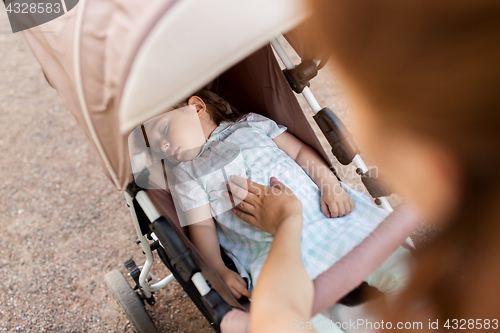
{"type": "MultiPolygon", "coordinates": [[[[189,212],[186,212],[186,215],[189,221],[189,212]]],[[[201,222],[189,224],[188,228],[191,242],[224,280],[233,296],[236,299],[240,299],[242,295],[251,297],[245,280],[239,274],[227,268],[222,261],[214,219],[211,217],[201,222]]]]}

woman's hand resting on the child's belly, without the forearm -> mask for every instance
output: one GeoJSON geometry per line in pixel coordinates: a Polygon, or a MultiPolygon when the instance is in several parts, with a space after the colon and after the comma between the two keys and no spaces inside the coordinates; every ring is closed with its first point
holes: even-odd
{"type": "Polygon", "coordinates": [[[301,223],[302,204],[293,192],[276,178],[271,178],[271,187],[236,175],[231,176],[230,180],[230,194],[225,195],[232,195],[239,208],[233,209],[233,212],[243,221],[273,235],[283,223],[301,223]]]}

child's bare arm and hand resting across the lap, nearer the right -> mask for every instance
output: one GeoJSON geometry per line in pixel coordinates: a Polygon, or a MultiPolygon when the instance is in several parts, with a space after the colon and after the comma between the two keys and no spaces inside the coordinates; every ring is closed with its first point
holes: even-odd
{"type": "Polygon", "coordinates": [[[274,143],[293,158],[321,189],[321,211],[327,217],[341,217],[354,209],[354,202],[340,186],[325,160],[311,147],[288,132],[273,139],[274,143]]]}

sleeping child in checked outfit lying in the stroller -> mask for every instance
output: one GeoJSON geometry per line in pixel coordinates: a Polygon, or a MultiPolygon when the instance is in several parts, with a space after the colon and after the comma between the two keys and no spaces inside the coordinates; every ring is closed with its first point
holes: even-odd
{"type": "MultiPolygon", "coordinates": [[[[199,91],[144,126],[151,148],[170,166],[167,179],[181,224],[188,225],[191,241],[236,299],[251,296],[273,235],[231,211],[238,204],[227,196],[225,182],[231,175],[266,186],[276,177],[302,202],[301,251],[311,279],[361,243],[389,214],[366,194],[340,183],[323,158],[284,126],[258,114],[240,115],[211,91],[199,91]],[[226,267],[219,244],[239,274],[226,267]]],[[[399,290],[403,278],[398,274],[404,276],[406,270],[397,270],[379,276],[378,282],[367,281],[384,284],[374,285],[384,292],[387,286],[399,290]]]]}

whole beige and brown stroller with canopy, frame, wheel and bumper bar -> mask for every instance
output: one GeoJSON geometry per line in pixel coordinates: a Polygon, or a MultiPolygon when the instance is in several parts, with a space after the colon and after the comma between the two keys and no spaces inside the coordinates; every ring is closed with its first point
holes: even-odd
{"type": "MultiPolygon", "coordinates": [[[[293,91],[302,93],[339,162],[355,163],[375,202],[392,210],[385,198],[390,192],[370,175],[349,132],[309,90],[324,59],[304,57],[294,66],[275,38],[307,17],[299,0],[81,0],[65,15],[24,32],[49,84],[77,118],[108,178],[125,195],[145,263],[142,268],[125,263],[135,288],[117,270],[105,280],[138,332],[156,332],[144,302],[153,305],[154,293],[174,279],[215,331],[249,328],[248,300],[232,296],[180,227],[161,161],[151,158],[146,169],[136,170],[128,150],[131,132],[201,87],[244,113],[287,126],[328,161],[293,91]],[[172,274],[151,284],[154,251],[172,274]]],[[[307,40],[297,31],[287,36],[299,55],[305,54],[301,49],[307,48],[307,40]]],[[[342,269],[344,261],[321,274],[315,280],[313,314],[355,295],[352,290],[359,290],[363,274],[381,263],[373,258],[392,253],[418,221],[413,211],[399,209],[377,228],[377,237],[368,237],[349,254],[364,271],[342,269]],[[332,276],[349,283],[341,291],[332,289],[332,276]]]]}

